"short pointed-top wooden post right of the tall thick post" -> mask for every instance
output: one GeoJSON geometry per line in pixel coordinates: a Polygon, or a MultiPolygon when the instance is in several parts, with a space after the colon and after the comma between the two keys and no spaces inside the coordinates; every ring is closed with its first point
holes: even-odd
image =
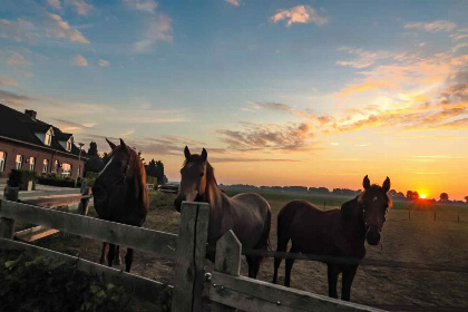
{"type": "MultiPolygon", "coordinates": [[[[241,254],[242,244],[230,230],[216,242],[216,261],[215,270],[230,275],[240,275],[241,273],[241,254]]],[[[223,285],[212,284],[209,292],[223,292],[223,285]]],[[[213,312],[234,312],[237,311],[232,306],[221,303],[213,303],[213,312]]]]}

